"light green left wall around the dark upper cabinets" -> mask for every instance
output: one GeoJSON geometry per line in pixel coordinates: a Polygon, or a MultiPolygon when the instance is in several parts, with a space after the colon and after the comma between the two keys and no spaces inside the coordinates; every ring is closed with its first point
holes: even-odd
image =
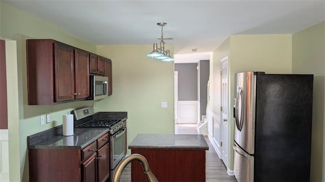
{"type": "Polygon", "coordinates": [[[67,114],[75,107],[92,105],[92,102],[79,101],[55,106],[27,105],[25,39],[54,39],[94,53],[96,46],[82,42],[58,27],[5,3],[0,3],[0,22],[0,37],[13,40],[8,44],[17,45],[16,50],[12,47],[9,50],[9,52],[17,51],[17,54],[7,55],[7,61],[16,62],[7,65],[7,70],[13,70],[9,72],[8,78],[12,81],[11,85],[8,84],[8,90],[11,91],[8,94],[8,111],[11,112],[8,118],[10,181],[28,181],[27,136],[62,124],[63,114],[67,114]],[[12,75],[14,72],[16,75],[12,75]],[[47,113],[50,113],[51,122],[40,126],[40,115],[47,113]]]}

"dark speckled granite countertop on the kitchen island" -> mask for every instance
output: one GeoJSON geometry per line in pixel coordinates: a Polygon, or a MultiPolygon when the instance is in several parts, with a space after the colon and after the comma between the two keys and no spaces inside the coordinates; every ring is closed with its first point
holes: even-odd
{"type": "Polygon", "coordinates": [[[138,134],[128,149],[209,150],[202,134],[138,134]]]}

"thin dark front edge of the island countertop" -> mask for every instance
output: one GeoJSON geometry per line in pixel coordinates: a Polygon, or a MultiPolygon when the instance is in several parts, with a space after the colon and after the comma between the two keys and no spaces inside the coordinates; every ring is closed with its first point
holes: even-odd
{"type": "Polygon", "coordinates": [[[182,150],[182,151],[207,151],[209,147],[181,147],[181,146],[128,146],[131,150],[182,150]]]}

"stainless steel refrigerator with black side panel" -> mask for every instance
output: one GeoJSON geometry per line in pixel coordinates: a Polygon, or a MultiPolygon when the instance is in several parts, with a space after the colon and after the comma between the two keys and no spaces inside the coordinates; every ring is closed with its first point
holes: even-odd
{"type": "Polygon", "coordinates": [[[309,181],[313,75],[236,74],[234,173],[241,181],[309,181]]]}

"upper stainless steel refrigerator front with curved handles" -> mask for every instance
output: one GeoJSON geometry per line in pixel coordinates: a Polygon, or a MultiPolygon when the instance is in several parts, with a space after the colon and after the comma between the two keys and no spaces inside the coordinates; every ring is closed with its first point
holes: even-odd
{"type": "Polygon", "coordinates": [[[256,75],[250,71],[235,76],[234,139],[248,154],[254,154],[256,75]]]}

